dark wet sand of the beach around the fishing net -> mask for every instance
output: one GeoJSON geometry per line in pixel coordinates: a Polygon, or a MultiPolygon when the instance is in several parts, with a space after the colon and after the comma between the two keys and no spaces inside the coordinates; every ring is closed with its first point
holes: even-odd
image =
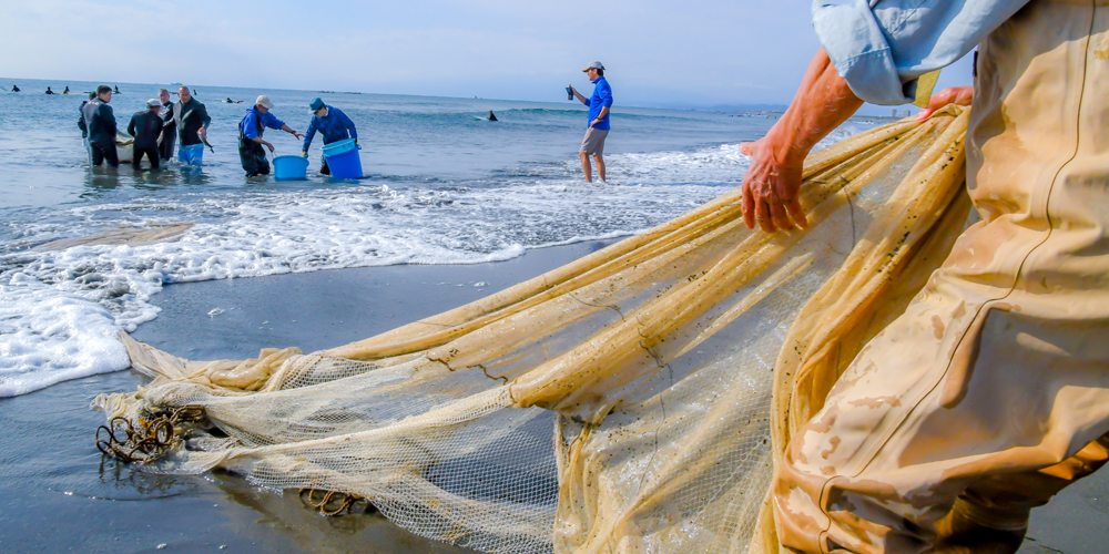
{"type": "MultiPolygon", "coordinates": [[[[246,358],[264,347],[319,350],[476,300],[604,244],[532,250],[498,264],[173,285],[154,299],[162,314],[134,337],[191,359],[246,358]],[[214,309],[223,312],[210,316],[214,309]]],[[[296,494],[277,495],[224,472],[151,475],[102,458],[93,433],[103,414],[90,401],[144,381],[123,371],[0,399],[0,552],[471,552],[417,537],[376,514],[326,519],[296,494]]],[[[1034,511],[1020,552],[1087,554],[1107,544],[1109,472],[1101,471],[1034,511]]]]}

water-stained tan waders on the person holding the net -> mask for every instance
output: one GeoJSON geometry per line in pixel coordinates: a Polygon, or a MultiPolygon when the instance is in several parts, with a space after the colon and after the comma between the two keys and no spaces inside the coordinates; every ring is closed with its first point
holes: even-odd
{"type": "Polygon", "coordinates": [[[794,435],[773,499],[784,545],[925,552],[953,511],[1019,532],[1105,462],[1107,84],[1106,1],[1032,0],[980,45],[983,220],[794,435]]]}

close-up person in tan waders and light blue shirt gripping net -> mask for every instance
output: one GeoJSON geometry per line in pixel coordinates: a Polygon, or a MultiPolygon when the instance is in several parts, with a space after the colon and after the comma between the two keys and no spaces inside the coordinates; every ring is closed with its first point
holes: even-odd
{"type": "MultiPolygon", "coordinates": [[[[1013,553],[1029,511],[1109,456],[1109,6],[813,4],[793,104],[742,144],[744,223],[805,226],[812,147],[863,105],[978,48],[967,192],[981,220],[792,434],[770,500],[805,553],[1013,553]]],[[[896,279],[897,277],[891,276],[896,279]]],[[[907,277],[903,277],[907,278],[907,277]]]]}

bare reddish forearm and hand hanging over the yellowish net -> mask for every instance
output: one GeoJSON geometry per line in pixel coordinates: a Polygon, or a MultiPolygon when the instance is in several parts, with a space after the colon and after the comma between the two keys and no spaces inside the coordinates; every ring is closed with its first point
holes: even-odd
{"type": "Polygon", "coordinates": [[[751,156],[742,185],[747,228],[753,229],[756,222],[766,232],[808,225],[798,199],[805,157],[862,105],[822,48],[782,119],[766,136],[740,145],[751,156]]]}

